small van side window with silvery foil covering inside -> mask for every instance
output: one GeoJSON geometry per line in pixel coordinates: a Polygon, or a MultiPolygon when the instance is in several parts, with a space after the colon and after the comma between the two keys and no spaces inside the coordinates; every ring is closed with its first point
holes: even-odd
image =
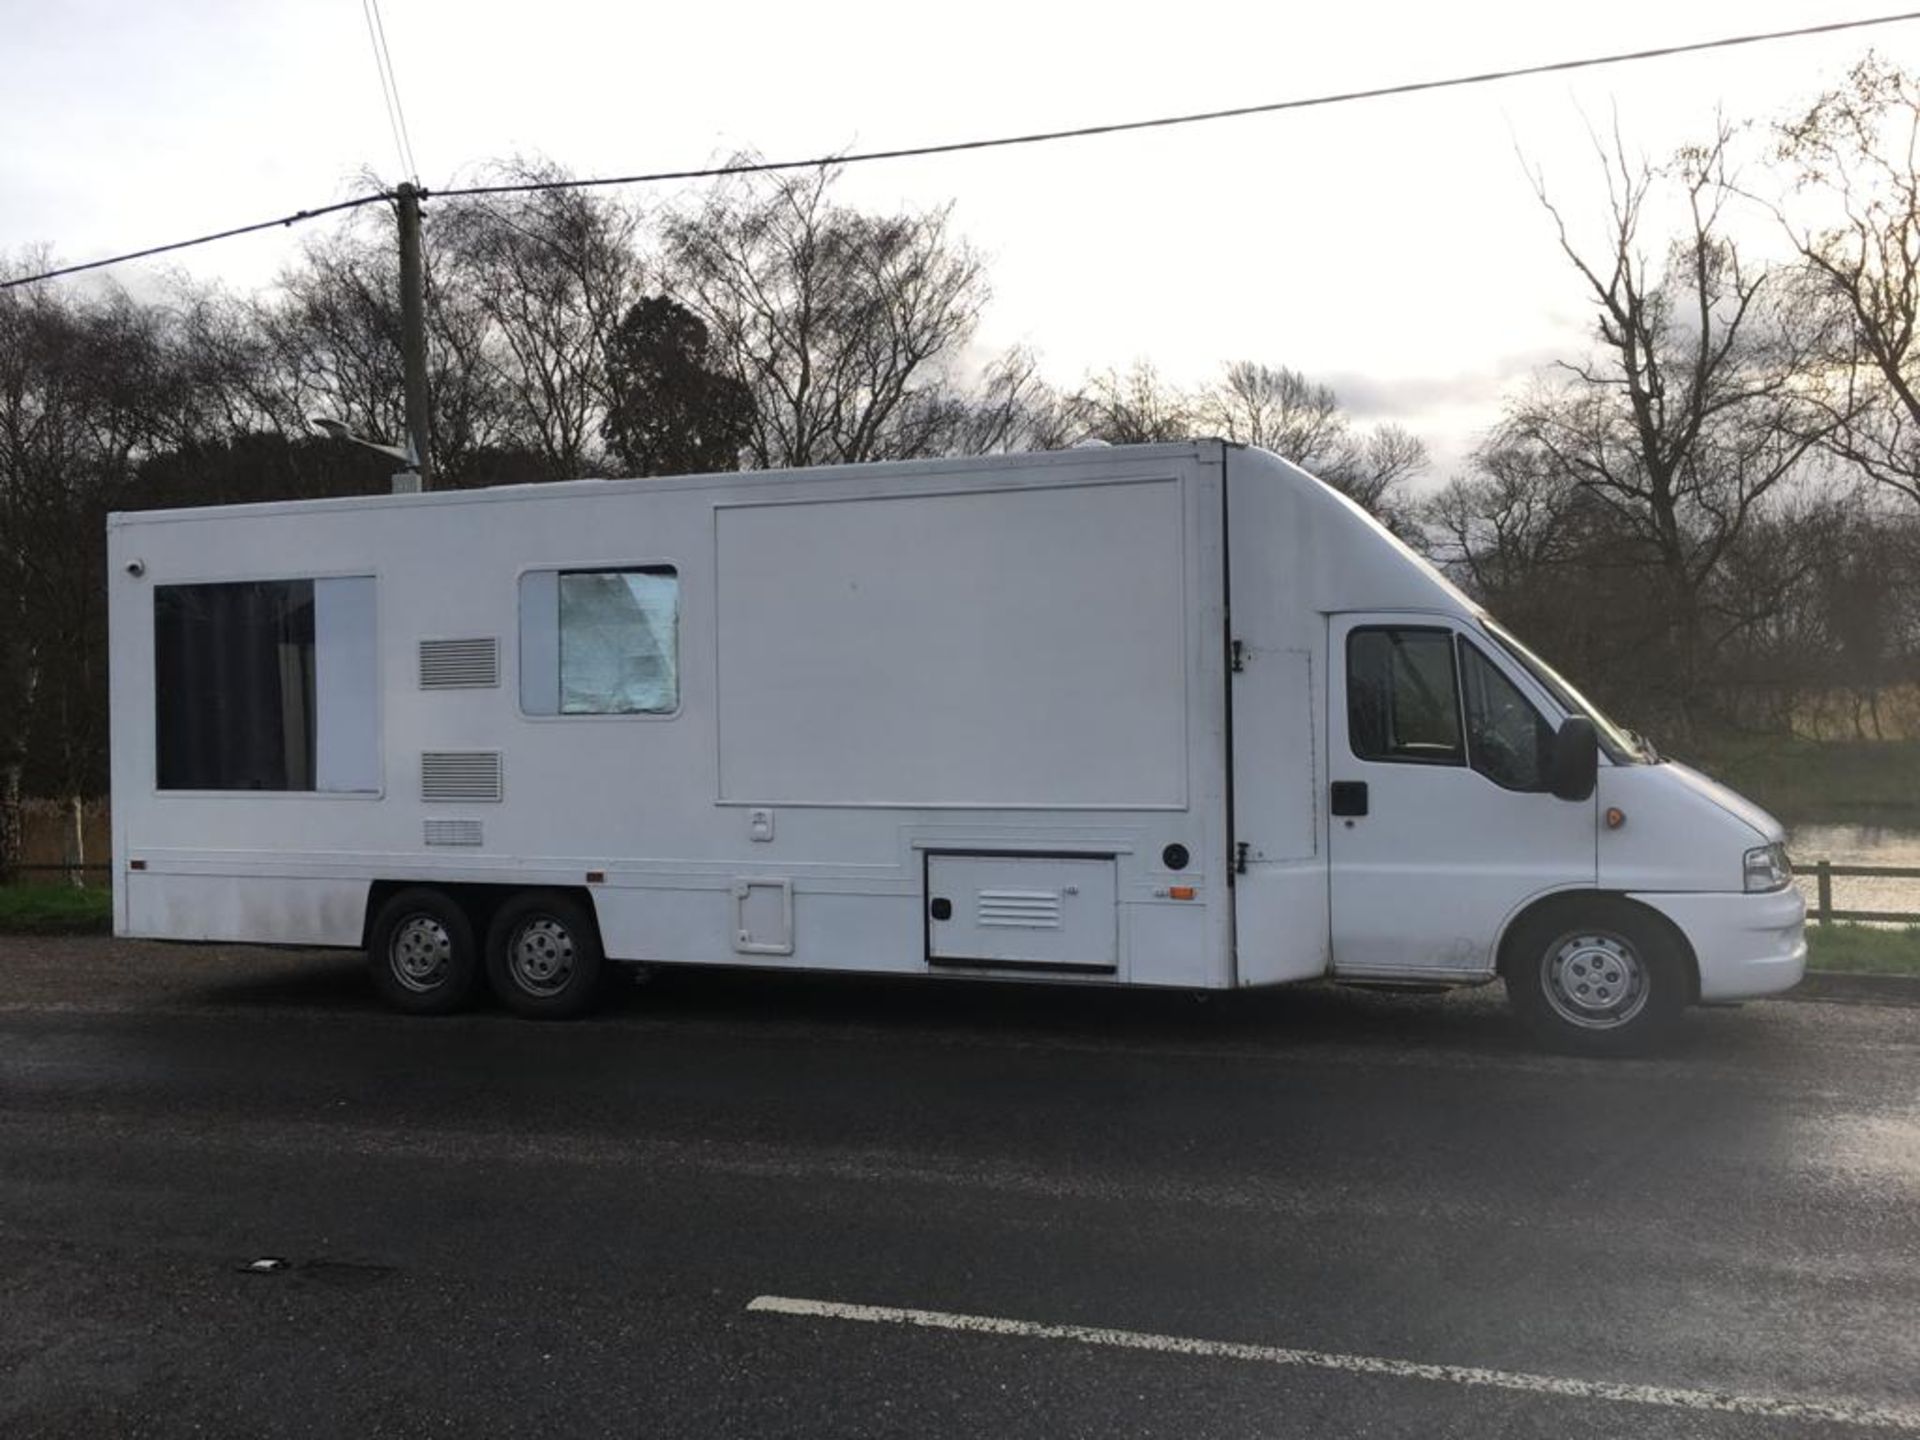
{"type": "Polygon", "coordinates": [[[649,564],[520,576],[520,710],[674,714],[680,574],[649,564]]]}

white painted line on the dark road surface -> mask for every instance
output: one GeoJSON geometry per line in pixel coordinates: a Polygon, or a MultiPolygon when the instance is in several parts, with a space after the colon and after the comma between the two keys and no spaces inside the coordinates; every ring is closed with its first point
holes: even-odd
{"type": "Polygon", "coordinates": [[[1350,1375],[1390,1375],[1405,1380],[1442,1380],[1496,1390],[1528,1390],[1532,1394],[1571,1400],[1613,1400],[1630,1405],[1707,1409],[1728,1415],[1763,1415],[1766,1419],[1826,1421],[1830,1425],[1857,1425],[1876,1430],[1920,1432],[1920,1409],[1880,1409],[1849,1400],[1789,1400],[1780,1396],[1724,1394],[1718,1390],[1676,1390],[1661,1384],[1572,1380],[1559,1375],[1490,1371],[1478,1365],[1427,1365],[1415,1359],[1390,1359],[1384,1356],[1342,1356],[1325,1350],[1292,1350],[1236,1340],[1196,1340],[1183,1334],[1108,1331],[1089,1325],[1041,1325],[1037,1321],[1002,1319],[996,1315],[952,1315],[943,1309],[899,1309],[895,1306],[852,1306],[837,1300],[795,1300],[778,1294],[755,1296],[747,1302],[747,1309],[764,1315],[860,1321],[866,1325],[910,1325],[924,1331],[960,1331],[966,1334],[1004,1334],[1021,1340],[1071,1340],[1073,1344],[1104,1346],[1110,1350],[1156,1350],[1169,1356],[1250,1359],[1263,1365],[1294,1365],[1346,1371],[1350,1375]]]}

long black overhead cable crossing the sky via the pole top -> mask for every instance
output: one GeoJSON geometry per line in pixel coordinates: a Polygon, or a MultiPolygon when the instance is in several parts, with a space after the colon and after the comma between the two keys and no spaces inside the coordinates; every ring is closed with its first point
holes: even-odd
{"type": "MultiPolygon", "coordinates": [[[[1342,106],[1357,100],[1386,100],[1392,96],[1423,94],[1428,90],[1457,90],[1469,84],[1492,84],[1496,81],[1519,81],[1530,75],[1557,75],[1565,71],[1580,69],[1599,69],[1601,65],[1626,65],[1642,60],[1668,60],[1672,56],[1692,56],[1707,50],[1732,50],[1736,46],[1766,44],[1770,40],[1801,40],[1814,35],[1837,35],[1841,31],[1864,31],[1880,25],[1901,25],[1907,21],[1920,19],[1920,10],[1908,10],[1897,15],[1870,15],[1864,19],[1839,19],[1828,21],[1824,25],[1799,25],[1786,31],[1755,31],[1753,35],[1728,35],[1718,40],[1693,40],[1690,44],[1668,44],[1655,46],[1649,50],[1622,50],[1609,56],[1586,56],[1580,60],[1553,60],[1540,65],[1515,65],[1509,69],[1490,69],[1473,75],[1450,75],[1434,81],[1405,81],[1402,84],[1380,84],[1365,90],[1334,90],[1331,94],[1304,96],[1296,100],[1273,100],[1260,106],[1233,106],[1229,109],[1200,109],[1185,115],[1160,115],[1154,119],[1139,121],[1114,121],[1108,125],[1079,125],[1064,131],[1033,131],[1029,134],[1002,134],[979,140],[950,140],[947,144],[929,146],[904,146],[897,150],[864,150],[854,154],[837,156],[814,156],[810,159],[758,159],[733,165],[708,165],[703,169],[684,169],[684,171],[649,171],[643,175],[605,175],[591,177],[584,180],[518,180],[507,184],[468,184],[449,190],[420,190],[420,196],[436,194],[444,198],[461,196],[501,196],[501,194],[530,194],[536,190],[589,190],[597,186],[612,184],[655,184],[662,180],[705,180],[722,175],[766,175],[770,171],[801,171],[818,169],[822,165],[858,165],[876,159],[912,159],[920,156],[952,156],[968,150],[1002,150],[1008,146],[1031,146],[1044,144],[1052,140],[1083,140],[1098,134],[1125,134],[1129,131],[1158,131],[1171,129],[1175,125],[1200,125],[1206,121],[1223,119],[1242,119],[1246,115],[1277,115],[1288,109],[1315,109],[1323,106],[1342,106]]],[[[405,121],[401,119],[401,134],[405,134],[405,121]]],[[[150,246],[146,250],[132,250],[125,255],[109,255],[108,259],[92,259],[83,265],[63,265],[54,271],[42,271],[40,275],[23,275],[12,280],[0,280],[0,290],[12,290],[23,284],[38,284],[40,280],[56,280],[63,275],[79,275],[83,271],[98,271],[109,265],[123,265],[132,259],[148,259],[152,255],[165,255],[175,250],[190,250],[194,246],[205,246],[215,240],[228,240],[236,234],[252,234],[255,230],[271,230],[280,225],[298,225],[301,221],[319,219],[321,215],[332,215],[342,209],[357,209],[361,205],[371,205],[380,200],[392,200],[392,192],[380,192],[371,196],[359,196],[355,200],[342,200],[334,205],[321,205],[317,209],[300,209],[292,215],[282,215],[273,221],[259,221],[255,225],[240,225],[230,230],[217,230],[215,234],[194,236],[192,240],[175,240],[165,246],[150,246]]]]}

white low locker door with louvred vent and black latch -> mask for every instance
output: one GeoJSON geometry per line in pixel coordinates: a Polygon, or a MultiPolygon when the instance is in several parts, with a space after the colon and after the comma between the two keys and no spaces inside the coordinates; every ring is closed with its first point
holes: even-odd
{"type": "Polygon", "coordinates": [[[1114,858],[927,854],[927,964],[1112,973],[1114,858]]]}

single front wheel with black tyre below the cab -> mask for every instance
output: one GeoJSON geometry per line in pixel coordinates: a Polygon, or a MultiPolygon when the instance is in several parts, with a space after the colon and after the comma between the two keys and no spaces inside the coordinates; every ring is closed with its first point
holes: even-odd
{"type": "Polygon", "coordinates": [[[1509,937],[1507,1000],[1536,1039],[1572,1054],[1642,1054],[1672,1037],[1688,958],[1624,900],[1553,906],[1509,937]]]}

